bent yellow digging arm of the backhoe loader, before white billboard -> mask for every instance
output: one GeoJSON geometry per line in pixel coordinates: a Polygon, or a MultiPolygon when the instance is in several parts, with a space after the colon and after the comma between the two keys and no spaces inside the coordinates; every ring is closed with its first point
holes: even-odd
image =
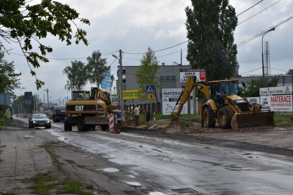
{"type": "Polygon", "coordinates": [[[188,79],[187,79],[187,82],[186,82],[186,85],[185,85],[185,88],[184,90],[181,92],[176,104],[175,104],[175,107],[173,109],[173,112],[171,112],[171,115],[172,115],[172,121],[175,121],[178,119],[180,113],[181,113],[181,110],[183,108],[183,105],[186,103],[187,99],[189,98],[190,96],[190,93],[193,91],[194,88],[198,88],[201,92],[203,92],[206,97],[209,99],[209,83],[206,83],[204,81],[200,81],[196,78],[196,76],[189,76],[188,79]],[[197,81],[203,83],[203,84],[199,84],[199,83],[196,83],[197,81]],[[181,98],[181,101],[180,101],[180,98],[181,98]],[[180,103],[178,103],[180,101],[180,103]],[[178,108],[177,108],[177,111],[175,111],[175,108],[176,108],[176,105],[178,105],[178,108]]]}

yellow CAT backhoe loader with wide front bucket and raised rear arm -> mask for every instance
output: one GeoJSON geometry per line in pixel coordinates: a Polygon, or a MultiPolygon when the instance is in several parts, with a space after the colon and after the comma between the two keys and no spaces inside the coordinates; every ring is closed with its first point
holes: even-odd
{"type": "MultiPolygon", "coordinates": [[[[244,82],[241,82],[245,86],[244,82]]],[[[219,80],[204,82],[195,76],[188,77],[176,105],[177,111],[171,112],[172,121],[178,120],[183,105],[190,93],[196,88],[205,94],[208,101],[199,102],[202,127],[215,127],[216,119],[222,129],[232,128],[237,131],[266,129],[275,126],[274,112],[262,111],[258,103],[250,103],[239,93],[238,80],[219,80]],[[180,102],[180,103],[179,103],[180,102]]]]}

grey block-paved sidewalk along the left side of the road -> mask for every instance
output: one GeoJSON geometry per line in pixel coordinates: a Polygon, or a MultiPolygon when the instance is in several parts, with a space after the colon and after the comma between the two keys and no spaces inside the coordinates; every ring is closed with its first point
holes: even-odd
{"type": "Polygon", "coordinates": [[[37,174],[56,172],[48,152],[39,146],[59,141],[44,131],[1,127],[0,131],[0,193],[30,194],[31,178],[37,174]]]}

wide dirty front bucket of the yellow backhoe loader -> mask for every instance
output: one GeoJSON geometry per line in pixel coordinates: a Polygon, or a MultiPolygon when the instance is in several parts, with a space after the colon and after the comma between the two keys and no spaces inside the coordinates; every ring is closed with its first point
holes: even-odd
{"type": "Polygon", "coordinates": [[[261,111],[234,114],[231,127],[236,131],[274,128],[274,112],[261,111]]]}

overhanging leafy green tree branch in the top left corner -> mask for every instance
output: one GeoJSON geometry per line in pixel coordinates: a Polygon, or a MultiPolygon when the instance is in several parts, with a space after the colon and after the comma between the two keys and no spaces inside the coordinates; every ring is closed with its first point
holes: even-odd
{"type": "Polygon", "coordinates": [[[41,44],[40,40],[51,34],[58,36],[61,41],[66,41],[67,45],[71,45],[73,38],[71,26],[73,24],[76,27],[75,44],[82,41],[88,45],[85,38],[86,31],[78,28],[74,20],[79,19],[88,25],[89,20],[79,18],[79,13],[67,4],[52,0],[42,0],[41,3],[35,5],[29,5],[30,2],[24,0],[0,1],[0,45],[7,53],[10,49],[5,48],[3,41],[20,45],[31,75],[36,78],[36,88],[40,89],[45,83],[36,77],[33,68],[40,67],[39,60],[49,62],[45,56],[53,51],[52,47],[41,44]],[[32,41],[39,45],[39,52],[32,51],[32,41]]]}

